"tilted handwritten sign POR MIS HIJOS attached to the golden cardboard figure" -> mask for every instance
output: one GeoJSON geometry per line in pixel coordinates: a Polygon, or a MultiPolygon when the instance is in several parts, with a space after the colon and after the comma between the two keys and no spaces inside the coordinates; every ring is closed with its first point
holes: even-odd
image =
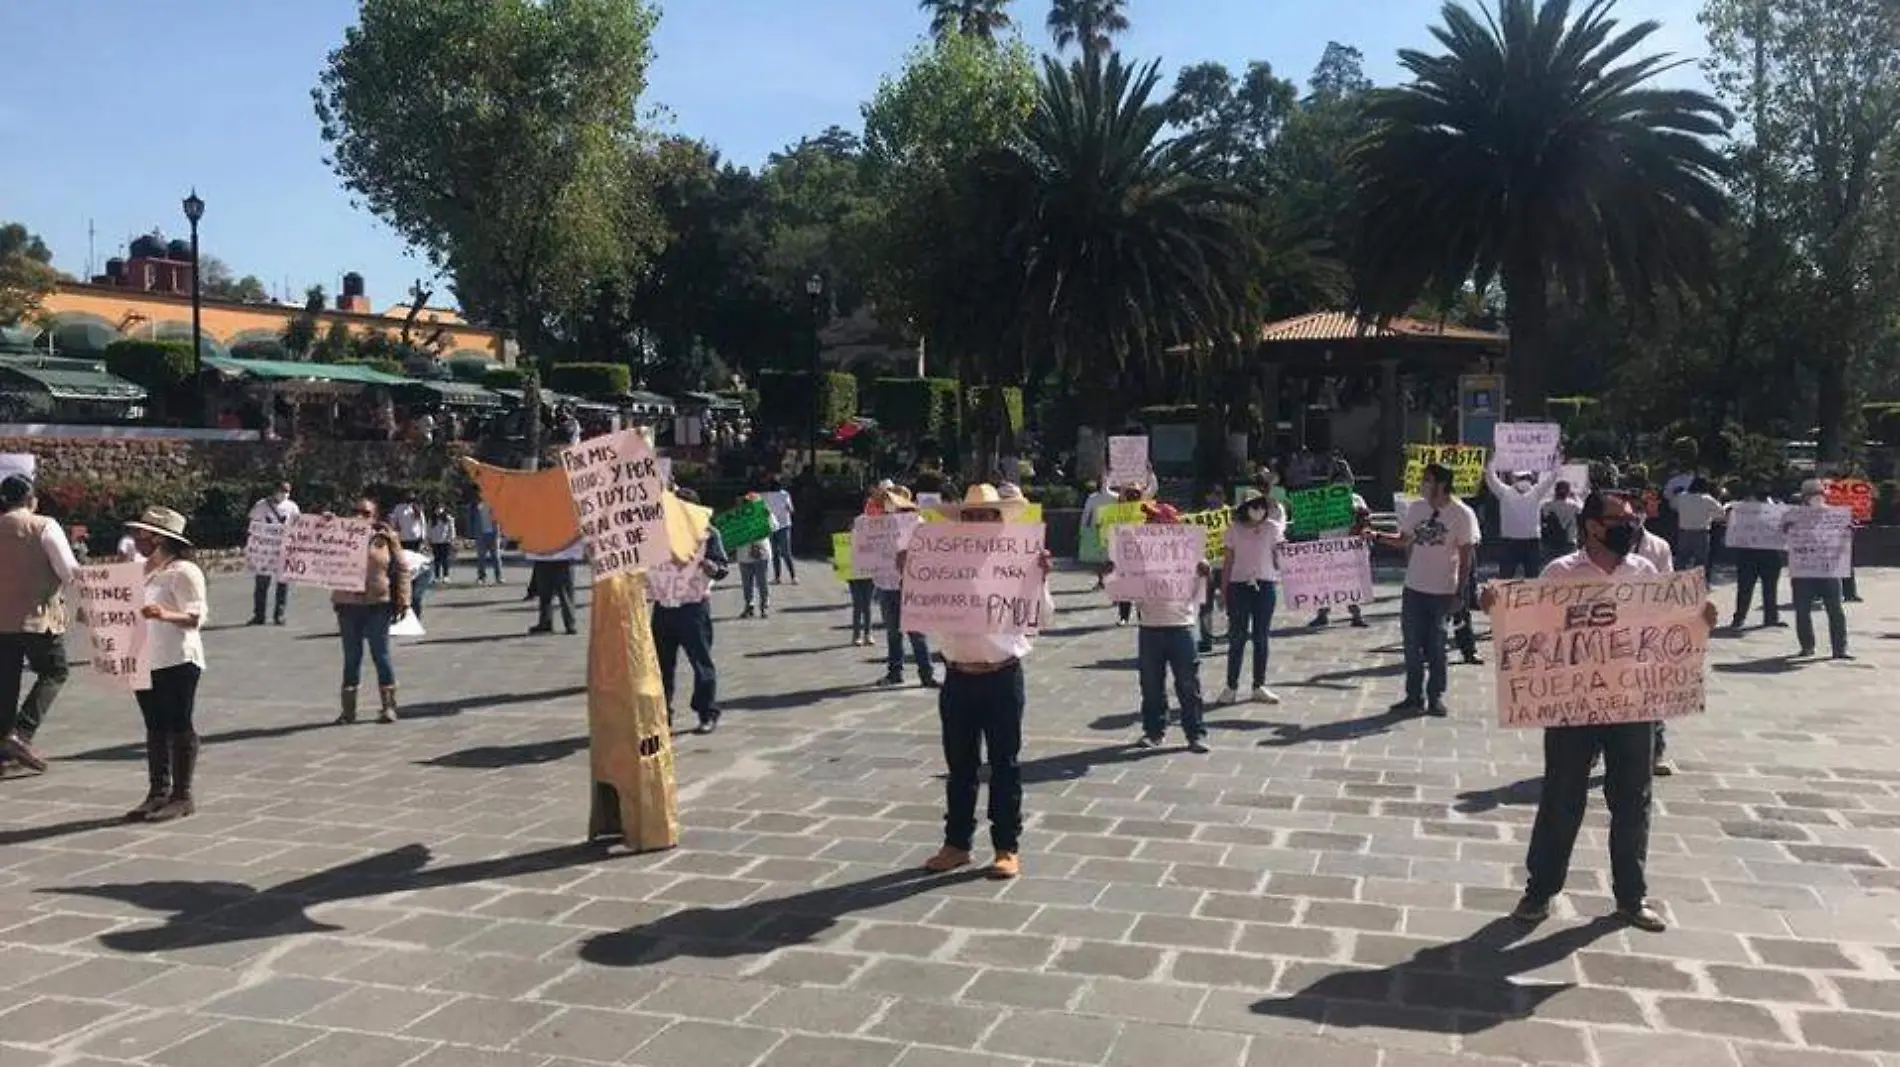
{"type": "Polygon", "coordinates": [[[602,433],[560,454],[595,581],[673,558],[665,484],[638,427],[602,433]]]}

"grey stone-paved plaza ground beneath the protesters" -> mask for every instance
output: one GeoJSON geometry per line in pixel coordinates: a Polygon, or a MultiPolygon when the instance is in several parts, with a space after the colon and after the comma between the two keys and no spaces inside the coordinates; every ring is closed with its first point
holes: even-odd
{"type": "Polygon", "coordinates": [[[935,706],[868,687],[825,571],[770,621],[718,592],[684,847],[604,860],[576,847],[585,638],[522,636],[521,585],[439,590],[408,718],[331,727],[323,600],[249,630],[217,579],[198,816],[116,822],[139,718],[84,674],[53,771],[0,782],[0,1067],[1900,1067],[1900,575],[1862,585],[1860,663],[1718,642],[1649,936],[1602,921],[1600,805],[1558,917],[1499,919],[1537,735],[1492,723],[1482,668],[1450,720],[1385,716],[1391,602],[1277,640],[1286,702],[1214,712],[1210,756],[1138,752],[1134,634],[1058,575],[1026,877],[988,883],[914,871],[935,706]]]}

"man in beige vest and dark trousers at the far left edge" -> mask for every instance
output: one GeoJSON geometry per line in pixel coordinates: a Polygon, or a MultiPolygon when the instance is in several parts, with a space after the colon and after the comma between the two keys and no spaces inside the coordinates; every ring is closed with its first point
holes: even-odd
{"type": "Polygon", "coordinates": [[[32,482],[0,478],[0,758],[46,771],[32,739],[66,683],[66,604],[80,562],[57,522],[36,515],[32,482]],[[19,699],[21,674],[32,689],[19,699]]]}

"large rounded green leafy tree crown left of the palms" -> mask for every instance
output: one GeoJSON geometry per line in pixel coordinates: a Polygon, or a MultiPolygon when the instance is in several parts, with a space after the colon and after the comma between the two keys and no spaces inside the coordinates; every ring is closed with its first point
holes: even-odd
{"type": "Polygon", "coordinates": [[[656,19],[646,0],[363,0],[312,93],[344,186],[530,355],[652,245],[629,158],[656,19]]]}

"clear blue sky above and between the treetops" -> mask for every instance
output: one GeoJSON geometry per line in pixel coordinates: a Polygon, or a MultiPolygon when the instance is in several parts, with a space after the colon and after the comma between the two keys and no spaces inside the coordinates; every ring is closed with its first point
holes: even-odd
{"type": "MultiPolygon", "coordinates": [[[[1016,0],[1047,47],[1043,0],[1016,0]]],[[[310,87],[353,23],[355,0],[0,0],[0,220],[19,220],[82,273],[87,220],[103,264],[154,226],[180,234],[179,201],[207,201],[203,249],[274,290],[300,294],[357,270],[376,308],[428,273],[388,228],[350,205],[323,165],[310,87]]],[[[1621,0],[1659,19],[1659,47],[1704,49],[1699,0],[1621,0]]],[[[1395,53],[1431,44],[1436,0],[1130,0],[1127,55],[1172,72],[1206,59],[1265,59],[1303,80],[1328,40],[1395,82],[1395,53]]],[[[730,159],[830,123],[857,127],[878,80],[901,68],[925,17],[914,0],[671,0],[646,106],[730,159]]],[[[1168,74],[1172,78],[1172,74],[1168,74]]],[[[1680,70],[1676,82],[1699,82],[1680,70]]],[[[95,270],[103,270],[97,268],[95,270]]],[[[441,300],[441,298],[439,298],[441,300]]]]}

